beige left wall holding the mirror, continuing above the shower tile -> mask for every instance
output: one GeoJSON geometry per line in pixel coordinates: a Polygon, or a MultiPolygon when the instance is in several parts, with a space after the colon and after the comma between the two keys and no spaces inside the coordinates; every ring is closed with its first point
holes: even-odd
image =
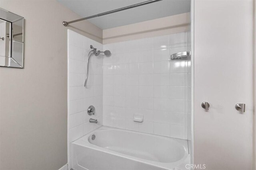
{"type": "Polygon", "coordinates": [[[102,30],[64,27],[80,17],[55,0],[0,7],[25,18],[24,69],[0,67],[0,169],[57,170],[67,163],[67,28],[98,42],[102,30]]]}

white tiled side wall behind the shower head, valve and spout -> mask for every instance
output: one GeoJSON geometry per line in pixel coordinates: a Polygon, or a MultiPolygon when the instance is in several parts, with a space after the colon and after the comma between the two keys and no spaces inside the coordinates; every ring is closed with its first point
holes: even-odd
{"type": "Polygon", "coordinates": [[[90,45],[103,50],[103,45],[68,30],[68,142],[71,143],[102,125],[103,56],[92,56],[89,65],[89,79],[84,87],[86,61],[90,45]],[[87,108],[93,105],[95,115],[88,115],[87,108]],[[98,124],[89,119],[98,119],[98,124]]]}

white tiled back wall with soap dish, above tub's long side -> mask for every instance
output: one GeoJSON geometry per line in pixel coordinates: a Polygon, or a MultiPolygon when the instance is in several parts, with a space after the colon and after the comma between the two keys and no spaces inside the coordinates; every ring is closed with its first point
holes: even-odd
{"type": "Polygon", "coordinates": [[[170,54],[190,51],[188,32],[104,45],[103,124],[188,139],[190,60],[170,54]],[[134,122],[134,114],[144,116],[134,122]]]}

